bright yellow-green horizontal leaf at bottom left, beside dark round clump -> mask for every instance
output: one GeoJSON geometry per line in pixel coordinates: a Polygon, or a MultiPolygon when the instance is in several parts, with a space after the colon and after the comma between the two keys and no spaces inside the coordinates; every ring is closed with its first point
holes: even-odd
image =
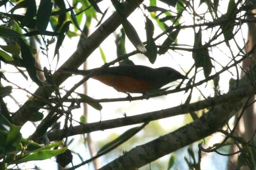
{"type": "Polygon", "coordinates": [[[57,156],[61,153],[64,153],[67,147],[61,148],[61,149],[56,149],[56,150],[44,150],[44,151],[39,151],[37,153],[32,153],[30,155],[27,155],[26,157],[22,159],[18,159],[16,163],[22,163],[22,162],[27,162],[27,161],[39,161],[39,160],[46,160],[49,159],[53,156],[57,156]]]}

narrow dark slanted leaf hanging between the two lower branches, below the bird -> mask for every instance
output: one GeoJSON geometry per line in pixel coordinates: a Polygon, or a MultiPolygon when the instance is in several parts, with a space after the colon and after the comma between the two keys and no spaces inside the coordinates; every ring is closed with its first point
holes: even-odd
{"type": "Polygon", "coordinates": [[[101,149],[99,149],[97,154],[101,154],[102,152],[105,152],[105,151],[109,150],[113,146],[117,146],[119,144],[122,144],[124,141],[129,139],[131,136],[136,134],[140,129],[141,129],[141,127],[132,127],[130,129],[128,129],[122,135],[118,136],[116,139],[114,139],[111,142],[102,146],[101,149]]]}

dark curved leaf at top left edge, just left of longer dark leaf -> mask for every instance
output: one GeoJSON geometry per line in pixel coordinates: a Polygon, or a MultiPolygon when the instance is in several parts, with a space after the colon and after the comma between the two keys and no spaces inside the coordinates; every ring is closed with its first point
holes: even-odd
{"type": "Polygon", "coordinates": [[[32,22],[33,17],[37,13],[37,4],[36,0],[27,0],[27,11],[25,13],[25,17],[23,18],[22,22],[20,23],[20,26],[27,26],[32,22]]]}

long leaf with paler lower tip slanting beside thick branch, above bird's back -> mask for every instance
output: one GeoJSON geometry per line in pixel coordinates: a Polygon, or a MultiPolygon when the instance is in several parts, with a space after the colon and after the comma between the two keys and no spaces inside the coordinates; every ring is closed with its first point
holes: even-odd
{"type": "Polygon", "coordinates": [[[135,28],[131,25],[131,23],[126,19],[122,18],[122,25],[130,42],[135,46],[135,48],[141,52],[146,53],[146,48],[143,43],[140,41],[139,36],[135,30],[135,28]]]}

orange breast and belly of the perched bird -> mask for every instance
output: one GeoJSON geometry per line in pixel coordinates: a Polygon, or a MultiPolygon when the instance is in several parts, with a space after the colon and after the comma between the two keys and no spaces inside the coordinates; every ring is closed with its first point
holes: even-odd
{"type": "Polygon", "coordinates": [[[147,93],[151,91],[151,82],[129,76],[93,76],[92,78],[123,93],[147,93]]]}

